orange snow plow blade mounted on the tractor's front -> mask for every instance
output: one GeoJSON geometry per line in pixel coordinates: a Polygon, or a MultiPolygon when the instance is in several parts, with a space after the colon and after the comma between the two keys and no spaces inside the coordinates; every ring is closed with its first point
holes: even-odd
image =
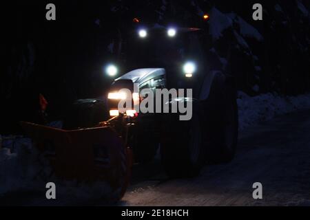
{"type": "Polygon", "coordinates": [[[105,181],[121,191],[121,197],[125,193],[132,154],[110,126],[74,131],[29,122],[21,122],[21,126],[50,160],[57,177],[90,183],[105,181]]]}

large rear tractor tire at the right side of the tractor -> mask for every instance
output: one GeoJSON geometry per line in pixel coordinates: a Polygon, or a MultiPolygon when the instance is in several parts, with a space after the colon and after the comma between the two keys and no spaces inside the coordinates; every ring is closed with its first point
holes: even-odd
{"type": "Polygon", "coordinates": [[[233,78],[224,74],[215,76],[209,98],[203,101],[203,109],[208,162],[231,162],[238,142],[238,106],[233,78]]]}

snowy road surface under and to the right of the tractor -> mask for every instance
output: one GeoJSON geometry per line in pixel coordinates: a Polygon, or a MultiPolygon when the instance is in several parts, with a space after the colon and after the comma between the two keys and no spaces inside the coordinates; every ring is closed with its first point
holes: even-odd
{"type": "Polygon", "coordinates": [[[134,172],[121,206],[310,206],[310,111],[242,131],[234,161],[206,166],[195,179],[169,180],[160,168],[134,172]],[[253,199],[254,182],[263,199],[253,199]]]}

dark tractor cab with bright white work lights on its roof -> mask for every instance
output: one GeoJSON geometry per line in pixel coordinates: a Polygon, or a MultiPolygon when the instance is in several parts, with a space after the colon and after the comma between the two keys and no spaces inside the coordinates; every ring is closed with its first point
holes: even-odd
{"type": "Polygon", "coordinates": [[[124,45],[125,65],[130,70],[163,68],[168,87],[186,87],[183,81],[198,78],[205,69],[202,34],[198,28],[137,28],[124,45]]]}

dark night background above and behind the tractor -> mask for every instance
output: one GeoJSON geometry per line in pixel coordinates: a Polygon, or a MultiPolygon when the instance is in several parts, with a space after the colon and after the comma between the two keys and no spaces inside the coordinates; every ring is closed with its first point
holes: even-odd
{"type": "MultiPolygon", "coordinates": [[[[310,9],[310,1],[300,2],[310,9]]],[[[208,42],[214,45],[214,68],[236,76],[238,89],[251,96],[309,91],[310,15],[302,13],[295,0],[10,1],[1,10],[0,133],[19,131],[19,120],[36,121],[40,93],[49,102],[50,120],[62,118],[73,100],[103,96],[112,80],[103,74],[103,66],[116,58],[116,47],[108,46],[125,41],[135,17],[148,24],[208,30],[214,7],[233,12],[263,37],[258,41],[243,36],[248,47],[240,46],[235,19],[220,39],[208,42]],[[56,21],[45,19],[48,3],[56,5],[56,21]],[[253,21],[254,3],[262,4],[263,21],[253,21]],[[277,4],[282,12],[275,10],[277,4]],[[203,12],[210,14],[208,22],[202,21],[203,12]],[[220,58],[226,58],[227,65],[220,58]]]]}

